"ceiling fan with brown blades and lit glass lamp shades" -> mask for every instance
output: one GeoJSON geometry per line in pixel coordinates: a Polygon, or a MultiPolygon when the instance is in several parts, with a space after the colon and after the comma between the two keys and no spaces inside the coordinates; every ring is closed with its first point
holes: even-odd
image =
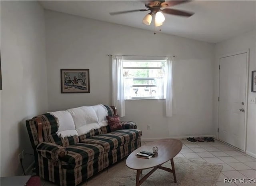
{"type": "MultiPolygon", "coordinates": [[[[145,1],[143,1],[145,2],[145,1]]],[[[166,8],[170,6],[175,6],[177,4],[182,4],[190,2],[190,0],[178,0],[178,1],[146,1],[145,6],[147,9],[138,9],[138,10],[126,10],[126,11],[119,11],[119,12],[110,12],[110,15],[117,15],[117,14],[125,14],[130,12],[145,12],[150,10],[150,13],[148,13],[142,20],[142,22],[146,25],[150,25],[152,22],[152,16],[155,18],[155,26],[161,26],[165,20],[164,14],[172,14],[176,16],[185,16],[190,17],[194,13],[193,12],[187,12],[184,10],[176,10],[172,8],[166,8]],[[164,8],[164,9],[162,9],[164,8]],[[163,14],[164,13],[164,14],[163,14]]]]}

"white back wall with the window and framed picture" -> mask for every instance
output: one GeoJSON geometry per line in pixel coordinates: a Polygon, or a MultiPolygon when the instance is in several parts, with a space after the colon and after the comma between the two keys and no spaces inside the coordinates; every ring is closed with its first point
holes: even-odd
{"type": "Polygon", "coordinates": [[[112,104],[111,58],[176,55],[177,114],[165,117],[164,100],[127,100],[126,116],[142,138],[211,135],[214,45],[178,36],[45,11],[49,111],[112,104]],[[61,68],[89,68],[90,94],[61,94],[61,68]],[[151,130],[147,130],[147,124],[151,130]]]}

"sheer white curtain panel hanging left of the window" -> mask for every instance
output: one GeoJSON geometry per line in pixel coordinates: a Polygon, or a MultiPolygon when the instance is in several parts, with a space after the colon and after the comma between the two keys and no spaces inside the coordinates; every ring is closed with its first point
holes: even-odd
{"type": "Polygon", "coordinates": [[[125,116],[122,56],[112,56],[112,104],[120,117],[125,116]]]}

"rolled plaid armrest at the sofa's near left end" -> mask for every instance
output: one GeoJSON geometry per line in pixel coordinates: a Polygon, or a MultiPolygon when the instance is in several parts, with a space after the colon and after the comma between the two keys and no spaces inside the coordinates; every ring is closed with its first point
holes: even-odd
{"type": "Polygon", "coordinates": [[[54,161],[58,161],[59,158],[68,154],[68,151],[63,146],[48,142],[38,144],[36,151],[40,156],[54,161]]]}

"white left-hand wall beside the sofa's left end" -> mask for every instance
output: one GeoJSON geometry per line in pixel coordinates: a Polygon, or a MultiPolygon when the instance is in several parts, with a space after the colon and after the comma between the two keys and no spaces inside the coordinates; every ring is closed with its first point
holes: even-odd
{"type": "MultiPolygon", "coordinates": [[[[1,176],[21,175],[18,153],[33,153],[25,120],[46,112],[44,10],[36,1],[1,1],[1,176]]],[[[25,156],[25,169],[31,164],[25,156]]]]}

